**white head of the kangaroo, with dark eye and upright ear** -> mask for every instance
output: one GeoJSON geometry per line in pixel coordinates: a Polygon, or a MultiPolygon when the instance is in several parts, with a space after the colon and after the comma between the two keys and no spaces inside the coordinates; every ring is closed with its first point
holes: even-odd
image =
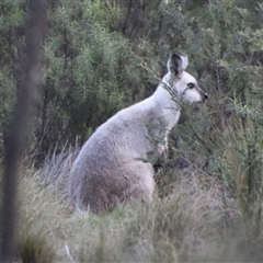
{"type": "Polygon", "coordinates": [[[208,94],[204,92],[196,79],[185,71],[188,65],[186,55],[173,54],[168,60],[167,67],[169,70],[172,90],[179,99],[192,102],[204,102],[208,99],[208,94]]]}

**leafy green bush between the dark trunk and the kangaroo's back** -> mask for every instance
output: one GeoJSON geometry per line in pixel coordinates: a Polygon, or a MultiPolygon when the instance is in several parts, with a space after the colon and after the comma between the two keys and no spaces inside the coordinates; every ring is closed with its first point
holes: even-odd
{"type": "Polygon", "coordinates": [[[57,2],[49,13],[38,107],[42,151],[83,141],[95,127],[130,103],[138,69],[128,42],[111,23],[118,9],[101,1],[57,2]]]}

